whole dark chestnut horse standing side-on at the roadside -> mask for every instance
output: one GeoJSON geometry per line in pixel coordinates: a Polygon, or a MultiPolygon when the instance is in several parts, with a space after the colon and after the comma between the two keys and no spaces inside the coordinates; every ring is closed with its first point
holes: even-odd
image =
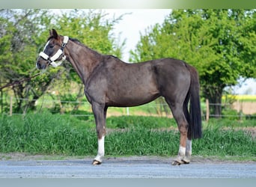
{"type": "Polygon", "coordinates": [[[58,67],[65,59],[82,79],[85,96],[94,112],[98,152],[93,165],[103,162],[108,107],[143,105],[159,96],[165,98],[180,131],[180,149],[172,164],[190,162],[192,138],[201,138],[199,82],[194,67],[173,58],[127,64],[112,55],[101,55],[79,40],[58,35],[52,29],[37,59],[37,68],[58,67]]]}

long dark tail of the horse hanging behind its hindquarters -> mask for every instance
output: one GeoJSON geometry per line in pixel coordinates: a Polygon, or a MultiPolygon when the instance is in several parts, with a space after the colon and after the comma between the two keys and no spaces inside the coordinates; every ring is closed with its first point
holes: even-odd
{"type": "Polygon", "coordinates": [[[189,65],[188,68],[191,75],[191,83],[187,96],[190,97],[189,133],[191,134],[191,138],[196,139],[202,137],[201,106],[199,96],[200,85],[198,71],[195,69],[195,67],[189,65]]]}

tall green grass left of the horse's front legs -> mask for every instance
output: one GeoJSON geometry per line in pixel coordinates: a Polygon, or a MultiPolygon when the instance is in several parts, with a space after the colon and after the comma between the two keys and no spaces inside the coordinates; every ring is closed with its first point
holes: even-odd
{"type": "Polygon", "coordinates": [[[0,123],[2,153],[82,155],[92,153],[96,146],[96,133],[67,115],[2,116],[0,123]]]}

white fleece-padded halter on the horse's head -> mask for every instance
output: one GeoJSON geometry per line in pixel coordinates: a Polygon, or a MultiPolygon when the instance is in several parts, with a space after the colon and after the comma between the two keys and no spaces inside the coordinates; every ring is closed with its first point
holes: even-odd
{"type": "Polygon", "coordinates": [[[51,58],[49,57],[49,55],[46,55],[46,53],[44,53],[46,46],[48,46],[48,44],[49,44],[49,41],[48,41],[46,43],[46,46],[43,49],[43,52],[39,53],[39,56],[41,58],[43,58],[44,60],[48,61],[48,64],[51,64],[52,67],[58,67],[59,65],[61,65],[62,61],[66,60],[66,56],[64,55],[64,48],[67,45],[68,40],[69,40],[69,38],[67,36],[64,36],[63,43],[61,44],[61,49],[58,49],[58,51],[55,53],[55,55],[53,55],[51,58]],[[58,58],[60,58],[61,55],[63,55],[61,60],[56,61],[58,58]]]}

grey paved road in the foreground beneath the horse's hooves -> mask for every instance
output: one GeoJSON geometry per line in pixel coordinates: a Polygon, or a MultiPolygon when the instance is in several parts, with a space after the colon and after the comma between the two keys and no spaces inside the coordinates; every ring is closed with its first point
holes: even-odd
{"type": "Polygon", "coordinates": [[[255,178],[256,162],[219,162],[196,159],[172,166],[172,159],[125,157],[91,159],[0,161],[0,178],[255,178]]]}

